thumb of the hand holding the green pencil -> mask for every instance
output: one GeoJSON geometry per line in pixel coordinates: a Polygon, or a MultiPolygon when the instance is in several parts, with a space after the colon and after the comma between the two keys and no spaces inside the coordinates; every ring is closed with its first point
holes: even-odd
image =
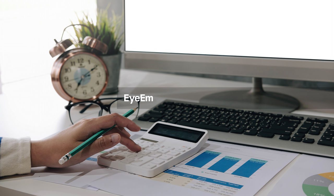
{"type": "Polygon", "coordinates": [[[113,133],[110,135],[105,135],[103,137],[98,138],[95,140],[90,148],[90,154],[96,154],[108,148],[115,146],[116,144],[120,143],[121,135],[118,133],[113,133]]]}

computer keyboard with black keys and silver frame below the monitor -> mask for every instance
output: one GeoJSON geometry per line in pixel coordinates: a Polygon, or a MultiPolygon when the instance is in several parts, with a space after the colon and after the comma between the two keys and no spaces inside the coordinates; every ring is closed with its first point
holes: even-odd
{"type": "Polygon", "coordinates": [[[166,100],[135,120],[146,129],[157,121],[206,129],[218,141],[334,157],[333,118],[166,100]]]}

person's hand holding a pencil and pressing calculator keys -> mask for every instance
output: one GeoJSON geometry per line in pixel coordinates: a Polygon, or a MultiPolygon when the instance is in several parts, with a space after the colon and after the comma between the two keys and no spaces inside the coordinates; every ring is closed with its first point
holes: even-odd
{"type": "Polygon", "coordinates": [[[31,141],[31,167],[68,167],[86,160],[88,157],[111,148],[118,143],[127,146],[130,150],[138,152],[141,147],[130,139],[130,134],[124,129],[139,131],[140,127],[132,120],[113,113],[97,118],[83,119],[62,132],[39,141],[31,141]],[[98,138],[89,146],[72,156],[64,164],[58,160],[86,141],[101,129],[116,126],[98,138]]]}

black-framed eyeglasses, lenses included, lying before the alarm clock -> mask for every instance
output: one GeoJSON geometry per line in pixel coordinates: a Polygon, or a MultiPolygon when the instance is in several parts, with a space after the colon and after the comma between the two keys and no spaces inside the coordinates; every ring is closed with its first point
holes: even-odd
{"type": "Polygon", "coordinates": [[[136,108],[136,117],[139,112],[139,101],[133,102],[131,104],[130,101],[124,101],[124,97],[122,98],[103,98],[97,99],[94,101],[81,101],[72,103],[69,102],[65,109],[68,110],[69,119],[72,124],[75,124],[81,119],[89,119],[102,116],[103,110],[111,113],[119,113],[124,114],[130,109],[136,108]],[[105,104],[104,102],[111,103],[105,104]]]}

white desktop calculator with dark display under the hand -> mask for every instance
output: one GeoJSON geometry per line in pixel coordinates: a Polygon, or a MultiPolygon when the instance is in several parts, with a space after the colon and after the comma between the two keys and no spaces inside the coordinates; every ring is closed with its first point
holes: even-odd
{"type": "Polygon", "coordinates": [[[99,155],[98,164],[153,177],[197,153],[207,139],[206,130],[156,122],[134,140],[142,147],[140,152],[120,146],[99,155]]]}

